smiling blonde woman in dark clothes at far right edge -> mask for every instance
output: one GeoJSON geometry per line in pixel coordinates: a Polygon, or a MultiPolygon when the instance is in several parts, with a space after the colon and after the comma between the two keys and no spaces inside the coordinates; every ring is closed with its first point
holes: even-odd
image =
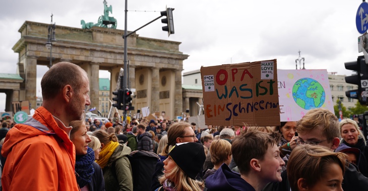
{"type": "Polygon", "coordinates": [[[340,133],[343,138],[341,144],[345,144],[351,148],[360,150],[359,157],[359,171],[368,177],[368,147],[365,145],[363,133],[360,131],[356,121],[351,119],[344,119],[340,122],[340,133]]]}

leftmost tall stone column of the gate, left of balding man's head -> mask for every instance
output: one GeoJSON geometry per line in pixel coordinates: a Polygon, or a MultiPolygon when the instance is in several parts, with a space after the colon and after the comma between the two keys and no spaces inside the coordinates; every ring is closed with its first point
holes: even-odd
{"type": "Polygon", "coordinates": [[[26,57],[26,79],[25,79],[25,90],[26,100],[31,105],[30,109],[36,109],[36,77],[37,77],[37,57],[27,56],[26,57]]]}

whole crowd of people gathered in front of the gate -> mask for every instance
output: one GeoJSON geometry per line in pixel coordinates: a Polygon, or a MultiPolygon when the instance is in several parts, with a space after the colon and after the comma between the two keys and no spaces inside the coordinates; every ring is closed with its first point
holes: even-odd
{"type": "Polygon", "coordinates": [[[75,64],[54,64],[41,87],[43,104],[32,118],[23,124],[2,122],[3,190],[368,187],[364,136],[355,121],[339,122],[326,109],[277,127],[204,128],[134,118],[122,125],[117,113],[106,121],[85,119],[89,81],[75,64]]]}

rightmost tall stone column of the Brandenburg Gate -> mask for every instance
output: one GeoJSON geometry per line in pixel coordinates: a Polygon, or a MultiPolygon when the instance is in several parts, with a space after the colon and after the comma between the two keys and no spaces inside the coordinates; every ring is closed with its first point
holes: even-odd
{"type": "Polygon", "coordinates": [[[181,116],[181,113],[183,112],[183,109],[182,109],[181,69],[175,70],[175,90],[174,90],[174,103],[173,104],[174,104],[174,116],[172,116],[172,117],[181,116]]]}

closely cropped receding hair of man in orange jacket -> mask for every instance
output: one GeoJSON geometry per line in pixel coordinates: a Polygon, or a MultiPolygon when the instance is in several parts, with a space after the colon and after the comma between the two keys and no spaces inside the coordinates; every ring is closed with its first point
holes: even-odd
{"type": "Polygon", "coordinates": [[[70,62],[54,64],[41,79],[43,100],[55,98],[67,84],[71,85],[76,93],[79,93],[82,85],[84,85],[82,81],[85,76],[87,76],[86,71],[76,64],[70,62]]]}

